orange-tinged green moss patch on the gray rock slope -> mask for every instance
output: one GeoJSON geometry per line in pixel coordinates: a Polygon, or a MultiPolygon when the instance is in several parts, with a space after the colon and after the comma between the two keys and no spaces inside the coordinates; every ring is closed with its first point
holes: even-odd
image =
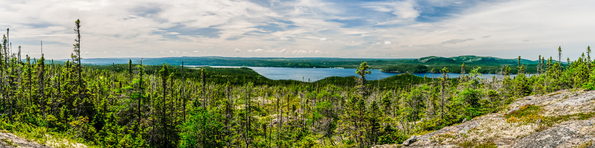
{"type": "Polygon", "coordinates": [[[540,115],[541,107],[537,105],[523,105],[519,107],[519,110],[511,112],[511,114],[506,114],[505,118],[506,121],[509,123],[514,122],[535,122],[537,120],[543,119],[543,115],[540,115]]]}

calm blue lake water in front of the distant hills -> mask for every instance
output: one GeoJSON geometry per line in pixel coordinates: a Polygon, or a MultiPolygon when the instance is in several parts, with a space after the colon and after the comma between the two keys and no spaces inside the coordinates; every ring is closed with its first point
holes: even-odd
{"type": "MultiPolygon", "coordinates": [[[[189,66],[196,67],[196,66],[189,66]]],[[[211,67],[237,67],[237,66],[211,66],[211,67]]],[[[290,68],[290,67],[248,67],[262,76],[269,79],[280,80],[280,79],[293,79],[298,81],[318,81],[330,76],[356,76],[355,69],[338,69],[338,68],[290,68]]],[[[380,70],[371,69],[372,73],[366,78],[368,80],[384,79],[390,76],[399,75],[401,73],[387,73],[380,72],[380,70]]],[[[413,73],[413,75],[428,78],[439,78],[442,77],[440,73],[413,73]]],[[[461,73],[449,73],[449,78],[456,78],[461,73]]],[[[495,74],[483,74],[483,78],[491,78],[496,76],[495,74]]],[[[511,75],[515,76],[515,75],[511,75]]]]}

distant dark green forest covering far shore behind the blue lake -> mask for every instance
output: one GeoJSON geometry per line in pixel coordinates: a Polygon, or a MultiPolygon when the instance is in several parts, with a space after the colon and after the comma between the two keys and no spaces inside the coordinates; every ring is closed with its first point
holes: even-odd
{"type": "MultiPolygon", "coordinates": [[[[113,65],[126,64],[129,59],[133,63],[137,63],[140,58],[94,58],[83,59],[82,63],[87,65],[113,65]]],[[[541,59],[541,58],[540,58],[541,59]]],[[[68,59],[62,59],[60,62],[65,62],[68,59]]],[[[497,73],[500,72],[502,65],[511,66],[512,72],[516,73],[518,70],[516,66],[517,59],[502,59],[497,57],[480,57],[480,56],[457,56],[457,57],[437,57],[428,56],[418,59],[355,59],[355,58],[334,58],[334,57],[218,57],[218,56],[203,56],[203,57],[159,57],[146,58],[143,60],[145,65],[162,65],[168,63],[171,65],[181,65],[184,62],[186,65],[192,66],[256,66],[256,67],[343,67],[355,69],[359,67],[362,62],[367,62],[371,69],[382,69],[383,72],[400,72],[403,69],[411,73],[431,73],[431,69],[440,70],[443,67],[448,67],[453,73],[460,73],[459,67],[465,63],[468,67],[466,71],[470,71],[472,67],[481,67],[480,73],[497,73]],[[428,68],[422,69],[417,67],[411,69],[411,65],[425,66],[428,68]]],[[[537,65],[540,60],[531,61],[521,59],[521,64],[527,65],[525,72],[536,73],[537,65]]]]}

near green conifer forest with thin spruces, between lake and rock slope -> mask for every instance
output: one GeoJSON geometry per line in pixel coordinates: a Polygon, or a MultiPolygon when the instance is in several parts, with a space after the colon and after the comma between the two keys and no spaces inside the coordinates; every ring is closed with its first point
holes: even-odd
{"type": "Polygon", "coordinates": [[[590,47],[568,66],[558,62],[561,48],[555,60],[539,56],[525,65],[519,57],[488,79],[480,78],[484,67],[462,63],[430,68],[442,75],[437,79],[403,74],[368,81],[362,62],[358,77],[301,82],[274,81],[246,67],[154,66],[142,59],[82,65],[79,20],[74,28],[74,50],[63,63],[21,59],[7,30],[0,132],[89,147],[371,147],[502,111],[522,96],[595,89],[590,47]],[[536,75],[525,75],[527,69],[536,75]],[[449,78],[450,72],[463,75],[449,78]]]}

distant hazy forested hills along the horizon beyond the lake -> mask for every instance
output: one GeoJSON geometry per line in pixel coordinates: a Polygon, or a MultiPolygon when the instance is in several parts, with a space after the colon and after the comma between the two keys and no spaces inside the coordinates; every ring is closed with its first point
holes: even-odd
{"type": "MultiPolygon", "coordinates": [[[[128,60],[134,63],[140,58],[94,58],[82,59],[82,63],[91,63],[97,65],[111,65],[128,63],[128,60]]],[[[68,59],[60,60],[66,61],[68,59]]],[[[428,56],[418,59],[356,59],[356,58],[336,58],[336,57],[159,57],[144,58],[145,65],[161,65],[169,63],[171,65],[210,65],[210,66],[264,66],[264,67],[345,67],[355,68],[359,63],[368,62],[371,69],[383,69],[385,66],[394,65],[482,65],[482,66],[500,66],[517,65],[518,59],[502,59],[497,57],[480,56],[457,56],[457,57],[437,57],[428,56]]],[[[521,59],[522,65],[537,65],[537,60],[521,59]]]]}

